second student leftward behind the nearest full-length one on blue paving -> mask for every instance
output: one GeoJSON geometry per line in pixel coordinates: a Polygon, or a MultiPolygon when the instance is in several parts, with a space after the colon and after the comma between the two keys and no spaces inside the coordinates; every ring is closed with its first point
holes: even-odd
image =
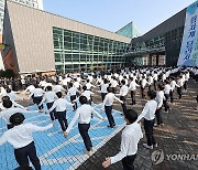
{"type": "MultiPolygon", "coordinates": [[[[43,105],[43,103],[46,102],[47,109],[50,109],[53,106],[54,100],[57,99],[57,96],[54,92],[52,92],[52,86],[47,86],[46,91],[47,92],[44,94],[43,99],[38,106],[43,105]]],[[[51,120],[54,121],[56,119],[56,110],[53,109],[52,111],[50,111],[50,116],[51,120]]]]}

